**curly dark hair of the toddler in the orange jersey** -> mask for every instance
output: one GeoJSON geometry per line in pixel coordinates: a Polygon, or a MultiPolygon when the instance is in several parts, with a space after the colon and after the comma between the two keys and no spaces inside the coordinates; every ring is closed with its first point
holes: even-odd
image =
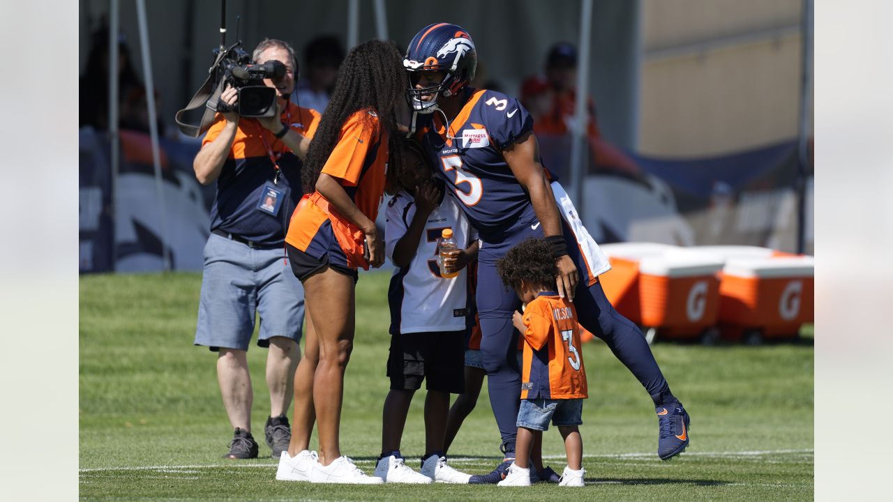
{"type": "Polygon", "coordinates": [[[497,272],[499,279],[512,289],[521,289],[524,280],[532,286],[554,290],[558,266],[545,238],[528,238],[497,260],[497,272]]]}

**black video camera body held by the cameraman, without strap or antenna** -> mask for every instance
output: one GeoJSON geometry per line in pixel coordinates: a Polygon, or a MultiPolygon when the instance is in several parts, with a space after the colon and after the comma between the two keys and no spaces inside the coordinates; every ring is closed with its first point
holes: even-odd
{"type": "MultiPolygon", "coordinates": [[[[276,114],[276,89],[263,85],[263,79],[280,79],[285,75],[285,64],[279,61],[268,61],[253,64],[251,55],[242,48],[242,42],[226,49],[219,57],[220,49],[214,54],[218,65],[217,86],[226,88],[230,84],[237,89],[238,101],[234,111],[243,117],[271,117],[276,114]]],[[[208,103],[210,106],[211,103],[208,103]]],[[[215,104],[217,112],[230,112],[230,106],[218,100],[215,104]]]]}

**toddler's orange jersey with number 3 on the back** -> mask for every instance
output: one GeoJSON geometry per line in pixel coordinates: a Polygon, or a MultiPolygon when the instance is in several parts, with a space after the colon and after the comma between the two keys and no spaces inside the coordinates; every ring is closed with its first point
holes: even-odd
{"type": "Polygon", "coordinates": [[[555,291],[541,291],[522,316],[524,337],[522,399],[588,397],[580,344],[580,325],[573,304],[555,291]]]}

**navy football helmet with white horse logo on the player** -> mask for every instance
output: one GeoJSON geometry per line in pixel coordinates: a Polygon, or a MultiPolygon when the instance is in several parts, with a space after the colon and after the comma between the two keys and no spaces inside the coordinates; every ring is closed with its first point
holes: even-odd
{"type": "Polygon", "coordinates": [[[447,22],[430,24],[421,29],[406,48],[403,65],[409,72],[406,97],[413,112],[433,113],[438,96],[454,96],[474,79],[478,53],[471,35],[460,26],[447,22]],[[437,85],[415,88],[422,71],[446,71],[437,85]],[[421,96],[433,94],[430,101],[421,96]]]}

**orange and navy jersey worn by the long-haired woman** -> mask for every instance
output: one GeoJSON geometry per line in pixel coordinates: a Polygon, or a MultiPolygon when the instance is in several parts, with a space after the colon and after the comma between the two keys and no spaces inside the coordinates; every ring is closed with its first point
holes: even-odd
{"type": "MultiPolygon", "coordinates": [[[[387,170],[388,133],[381,130],[378,115],[371,110],[353,113],[341,126],[338,143],[321,172],[337,179],[356,207],[375,221],[387,170]]],[[[313,202],[301,205],[292,215],[285,241],[315,258],[329,255],[330,264],[347,265],[329,216],[313,202]]]]}

